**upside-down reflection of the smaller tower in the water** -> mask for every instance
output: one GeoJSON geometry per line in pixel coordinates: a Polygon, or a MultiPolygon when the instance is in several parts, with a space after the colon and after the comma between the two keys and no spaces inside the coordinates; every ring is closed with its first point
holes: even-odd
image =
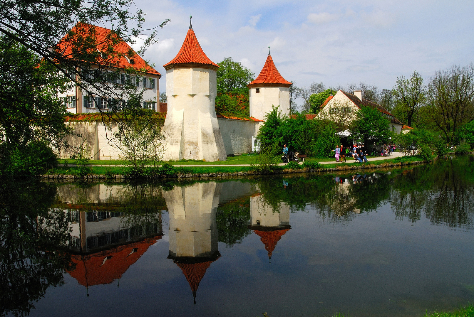
{"type": "Polygon", "coordinates": [[[290,206],[280,203],[277,211],[266,203],[261,194],[250,198],[250,218],[252,224],[248,226],[255,234],[261,237],[268,261],[272,262],[272,253],[282,236],[291,229],[290,206]]]}

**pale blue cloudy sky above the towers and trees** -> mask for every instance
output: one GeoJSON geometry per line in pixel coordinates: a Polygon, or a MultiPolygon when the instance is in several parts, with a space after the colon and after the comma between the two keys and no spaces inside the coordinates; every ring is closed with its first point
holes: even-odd
{"type": "Polygon", "coordinates": [[[162,91],[162,65],[178,53],[190,15],[213,62],[232,57],[257,76],[270,46],[282,76],[299,87],[365,81],[391,89],[398,76],[414,70],[428,81],[437,70],[474,62],[474,1],[135,0],[135,5],[146,12],[146,28],[171,19],[158,28],[159,42],[144,55],[163,75],[162,91]]]}

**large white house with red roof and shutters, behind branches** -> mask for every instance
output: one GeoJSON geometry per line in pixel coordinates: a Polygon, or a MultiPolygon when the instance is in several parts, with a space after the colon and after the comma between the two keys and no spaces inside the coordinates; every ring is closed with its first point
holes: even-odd
{"type": "MultiPolygon", "coordinates": [[[[143,89],[143,106],[159,111],[160,97],[160,77],[162,76],[153,67],[148,65],[135,51],[122,39],[114,36],[114,32],[110,29],[92,26],[86,23],[77,23],[71,31],[64,35],[57,44],[57,48],[65,57],[73,54],[76,40],[80,37],[91,37],[95,40],[95,45],[99,53],[109,51],[110,43],[113,43],[113,53],[106,53],[107,57],[98,59],[96,65],[93,65],[89,76],[97,76],[95,70],[100,70],[100,76],[104,78],[100,87],[91,87],[89,93],[83,91],[79,86],[73,90],[67,91],[60,97],[65,97],[65,106],[68,112],[74,114],[95,113],[100,111],[108,111],[112,106],[118,105],[127,100],[123,99],[117,84],[123,84],[126,79],[127,70],[137,70],[139,76],[136,77],[136,85],[138,89],[143,89]],[[113,65],[113,67],[109,67],[113,65]],[[121,76],[116,78],[111,76],[116,70],[123,70],[121,76]]],[[[120,73],[120,71],[119,71],[120,73]]],[[[87,75],[86,75],[87,76],[87,75]]]]}

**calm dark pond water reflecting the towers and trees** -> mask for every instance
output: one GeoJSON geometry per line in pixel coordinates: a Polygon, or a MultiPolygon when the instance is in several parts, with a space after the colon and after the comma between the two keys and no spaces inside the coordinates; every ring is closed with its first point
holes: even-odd
{"type": "Polygon", "coordinates": [[[474,300],[474,157],[350,174],[8,184],[8,316],[421,316],[474,300]]]}

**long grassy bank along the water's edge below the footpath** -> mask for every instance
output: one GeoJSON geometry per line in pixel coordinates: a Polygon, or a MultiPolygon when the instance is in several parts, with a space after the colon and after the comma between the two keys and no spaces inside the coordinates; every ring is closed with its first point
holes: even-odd
{"type": "MultiPolygon", "coordinates": [[[[436,160],[437,157],[433,156],[430,161],[436,160]]],[[[428,162],[430,162],[428,161],[428,162]]],[[[42,175],[43,179],[64,179],[64,180],[93,180],[93,179],[134,179],[134,178],[187,178],[187,177],[229,177],[229,176],[258,176],[258,175],[278,175],[278,174],[303,174],[312,172],[333,172],[333,171],[344,171],[344,170],[364,170],[364,169],[377,169],[386,167],[402,167],[408,165],[425,164],[424,161],[417,157],[406,157],[406,158],[395,158],[385,159],[379,164],[374,163],[337,163],[337,164],[325,164],[323,167],[318,163],[307,164],[306,167],[302,168],[288,168],[284,166],[274,166],[272,171],[261,172],[255,166],[212,166],[212,167],[170,167],[172,170],[167,170],[166,173],[160,174],[159,172],[150,173],[150,175],[143,175],[139,177],[133,177],[127,175],[127,167],[114,167],[114,166],[92,166],[90,167],[90,173],[87,175],[78,175],[77,167],[58,167],[48,175],[42,175]],[[314,165],[316,164],[316,165],[314,165]],[[75,174],[76,173],[76,174],[75,174]]],[[[295,166],[293,166],[295,167],[295,166]]],[[[159,167],[155,167],[159,168],[159,167]]]]}

